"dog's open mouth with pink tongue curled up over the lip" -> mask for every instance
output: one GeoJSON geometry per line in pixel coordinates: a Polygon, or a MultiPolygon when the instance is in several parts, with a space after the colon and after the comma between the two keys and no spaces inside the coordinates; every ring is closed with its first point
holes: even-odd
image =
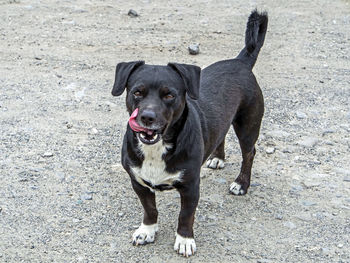
{"type": "Polygon", "coordinates": [[[157,143],[161,139],[162,129],[153,130],[153,129],[140,126],[136,121],[137,114],[138,114],[138,109],[135,109],[129,119],[130,128],[134,132],[136,132],[138,139],[142,143],[144,144],[157,143]]]}

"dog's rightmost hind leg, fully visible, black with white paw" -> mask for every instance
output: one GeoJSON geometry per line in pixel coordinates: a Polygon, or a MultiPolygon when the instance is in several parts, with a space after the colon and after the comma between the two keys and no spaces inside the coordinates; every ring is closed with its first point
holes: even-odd
{"type": "MultiPolygon", "coordinates": [[[[257,110],[259,107],[256,107],[257,110]]],[[[245,113],[233,122],[239,145],[242,152],[241,171],[236,180],[230,186],[230,192],[234,195],[244,195],[250,186],[251,169],[255,156],[255,143],[259,137],[259,130],[263,110],[245,113]]]]}

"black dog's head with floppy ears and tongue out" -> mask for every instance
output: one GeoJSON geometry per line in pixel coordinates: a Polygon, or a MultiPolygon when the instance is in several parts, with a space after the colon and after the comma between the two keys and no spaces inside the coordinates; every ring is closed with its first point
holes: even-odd
{"type": "Polygon", "coordinates": [[[142,143],[157,143],[179,120],[186,94],[198,98],[200,71],[197,66],[177,63],[153,66],[134,61],[117,65],[112,95],[119,96],[127,89],[129,125],[142,143]]]}

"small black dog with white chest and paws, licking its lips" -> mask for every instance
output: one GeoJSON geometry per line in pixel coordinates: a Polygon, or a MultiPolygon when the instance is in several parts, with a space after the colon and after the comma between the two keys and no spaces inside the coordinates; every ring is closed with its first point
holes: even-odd
{"type": "Polygon", "coordinates": [[[244,195],[264,113],[263,95],[252,73],[265,39],[267,14],[253,11],[247,23],[245,47],[235,59],[202,70],[143,61],[117,65],[112,90],[127,89],[131,115],[123,141],[122,164],[144,207],[133,244],[154,241],[158,230],[155,190],[177,189],[181,212],[174,249],[184,256],[196,251],[194,214],[199,199],[202,164],[223,168],[225,136],[231,125],[239,139],[242,167],[230,192],[244,195]],[[209,158],[209,159],[208,159],[209,158]]]}

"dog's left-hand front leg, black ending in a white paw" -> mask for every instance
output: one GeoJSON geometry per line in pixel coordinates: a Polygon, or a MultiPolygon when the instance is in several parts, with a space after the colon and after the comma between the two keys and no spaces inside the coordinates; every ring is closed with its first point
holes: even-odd
{"type": "Polygon", "coordinates": [[[143,187],[133,179],[132,187],[144,208],[142,224],[132,235],[132,243],[134,246],[153,243],[156,232],[158,231],[158,211],[155,194],[149,188],[143,187]]]}

